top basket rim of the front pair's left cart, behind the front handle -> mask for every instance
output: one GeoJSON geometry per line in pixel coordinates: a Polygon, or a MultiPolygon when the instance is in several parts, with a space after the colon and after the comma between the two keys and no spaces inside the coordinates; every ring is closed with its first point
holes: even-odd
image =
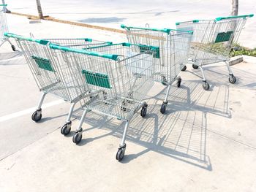
{"type": "Polygon", "coordinates": [[[95,39],[90,38],[43,38],[44,40],[47,40],[53,44],[65,46],[65,47],[76,47],[78,49],[88,48],[88,47],[94,47],[98,45],[111,45],[112,42],[103,42],[95,39]]]}

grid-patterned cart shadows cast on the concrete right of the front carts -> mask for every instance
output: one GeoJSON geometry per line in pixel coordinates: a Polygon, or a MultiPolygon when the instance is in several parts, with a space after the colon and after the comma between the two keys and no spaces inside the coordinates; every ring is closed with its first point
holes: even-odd
{"type": "MultiPolygon", "coordinates": [[[[161,85],[157,85],[157,88],[157,95],[147,98],[149,105],[146,118],[136,114],[127,131],[127,140],[146,147],[146,150],[127,154],[121,162],[126,164],[140,155],[154,151],[211,171],[211,161],[206,154],[207,114],[232,117],[228,108],[229,87],[222,85],[214,91],[204,91],[197,81],[184,81],[181,88],[172,86],[165,115],[159,109],[165,98],[166,88],[161,89],[161,85]]],[[[81,113],[78,110],[74,115],[80,118],[81,113]]],[[[115,136],[121,139],[124,131],[124,123],[93,112],[89,113],[85,122],[91,128],[84,131],[102,128],[108,130],[108,133],[82,139],[78,144],[80,146],[102,137],[115,136]]]]}

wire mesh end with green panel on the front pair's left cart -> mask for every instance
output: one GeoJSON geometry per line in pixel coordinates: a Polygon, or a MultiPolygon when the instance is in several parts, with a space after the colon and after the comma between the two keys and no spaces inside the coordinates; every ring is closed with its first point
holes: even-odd
{"type": "Polygon", "coordinates": [[[88,92],[83,78],[75,70],[75,64],[65,61],[61,51],[48,45],[16,39],[23,50],[27,64],[40,91],[51,93],[65,101],[74,102],[88,92]]]}

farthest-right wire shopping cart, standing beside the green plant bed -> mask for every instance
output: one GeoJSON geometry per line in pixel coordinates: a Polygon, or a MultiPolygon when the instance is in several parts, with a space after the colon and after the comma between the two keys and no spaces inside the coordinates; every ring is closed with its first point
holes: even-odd
{"type": "MultiPolygon", "coordinates": [[[[230,16],[216,18],[215,20],[190,20],[176,23],[176,27],[182,30],[194,31],[191,49],[189,53],[189,64],[194,69],[200,68],[203,75],[203,88],[210,88],[203,72],[203,66],[225,61],[229,72],[229,82],[235,83],[236,77],[230,69],[230,52],[247,18],[251,15],[230,16]]],[[[184,66],[183,71],[187,69],[184,66]]]]}

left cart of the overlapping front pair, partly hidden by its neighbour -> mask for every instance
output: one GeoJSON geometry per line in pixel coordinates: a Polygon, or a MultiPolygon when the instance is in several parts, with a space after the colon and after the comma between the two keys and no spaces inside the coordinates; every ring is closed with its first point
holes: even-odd
{"type": "MultiPolygon", "coordinates": [[[[61,134],[67,135],[71,129],[71,115],[75,104],[83,105],[83,97],[88,96],[88,88],[83,83],[83,78],[78,74],[74,65],[67,63],[61,56],[61,51],[53,51],[45,39],[26,38],[16,34],[5,33],[6,37],[15,38],[18,47],[23,51],[29,69],[33,74],[42,96],[39,99],[37,110],[31,118],[38,122],[42,118],[42,102],[46,94],[69,101],[71,107],[66,123],[61,128],[61,134]]],[[[104,44],[104,43],[103,43],[104,44]]]]}

